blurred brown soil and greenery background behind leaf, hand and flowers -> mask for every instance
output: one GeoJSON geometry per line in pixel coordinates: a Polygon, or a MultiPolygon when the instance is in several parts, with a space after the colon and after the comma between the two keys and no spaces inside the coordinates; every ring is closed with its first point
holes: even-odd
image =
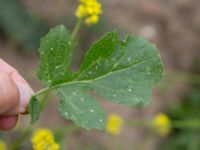
{"type": "MultiPolygon", "coordinates": [[[[35,91],[43,87],[36,77],[40,38],[58,24],[71,31],[77,2],[0,0],[0,58],[14,66],[35,91]]],[[[114,29],[122,38],[127,34],[145,36],[159,49],[165,67],[164,79],[154,88],[150,106],[130,108],[103,101],[104,108],[130,120],[149,120],[159,112],[173,120],[200,120],[200,1],[102,0],[102,3],[104,14],[100,23],[84,26],[80,31],[73,69],[78,69],[92,42],[114,29]]],[[[34,128],[56,129],[63,150],[200,150],[200,128],[173,128],[165,137],[128,125],[116,137],[99,131],[76,130],[70,121],[59,116],[55,108],[57,99],[50,98],[34,128]]],[[[0,132],[0,138],[8,143],[16,140],[29,121],[29,116],[21,117],[18,127],[9,133],[0,132]]],[[[30,140],[27,138],[19,149],[31,149],[30,140]]]]}

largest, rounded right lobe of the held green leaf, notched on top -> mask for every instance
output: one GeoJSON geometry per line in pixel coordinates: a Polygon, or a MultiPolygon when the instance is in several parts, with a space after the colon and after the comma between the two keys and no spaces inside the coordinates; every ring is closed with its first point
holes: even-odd
{"type": "Polygon", "coordinates": [[[140,36],[120,41],[116,32],[95,43],[76,80],[86,80],[102,97],[122,104],[148,105],[163,67],[155,46],[140,36]]]}

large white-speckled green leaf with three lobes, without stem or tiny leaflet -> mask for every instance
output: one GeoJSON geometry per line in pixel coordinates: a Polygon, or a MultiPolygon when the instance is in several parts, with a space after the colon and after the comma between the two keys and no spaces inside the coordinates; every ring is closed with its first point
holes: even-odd
{"type": "Polygon", "coordinates": [[[106,122],[106,113],[89,94],[91,90],[115,103],[145,106],[163,74],[154,45],[141,36],[121,41],[116,32],[95,42],[74,74],[71,38],[64,26],[55,27],[42,39],[40,56],[38,76],[60,98],[60,114],[86,129],[104,129],[106,122]]]}

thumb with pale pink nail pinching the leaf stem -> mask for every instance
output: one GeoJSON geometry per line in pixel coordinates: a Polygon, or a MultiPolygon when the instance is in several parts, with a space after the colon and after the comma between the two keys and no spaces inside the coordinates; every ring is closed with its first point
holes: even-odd
{"type": "Polygon", "coordinates": [[[24,113],[32,92],[26,84],[0,73],[0,116],[24,113]]]}

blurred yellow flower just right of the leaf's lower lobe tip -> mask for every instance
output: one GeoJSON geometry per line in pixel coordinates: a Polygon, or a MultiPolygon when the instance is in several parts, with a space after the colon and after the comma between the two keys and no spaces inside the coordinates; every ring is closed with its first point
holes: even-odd
{"type": "Polygon", "coordinates": [[[123,119],[117,114],[110,114],[107,120],[106,131],[112,135],[119,135],[124,124],[123,119]]]}

